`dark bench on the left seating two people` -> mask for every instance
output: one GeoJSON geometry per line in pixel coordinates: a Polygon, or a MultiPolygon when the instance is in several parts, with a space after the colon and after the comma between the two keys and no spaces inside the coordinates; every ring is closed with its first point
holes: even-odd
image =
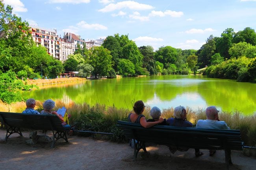
{"type": "Polygon", "coordinates": [[[44,131],[51,130],[53,134],[51,148],[54,147],[54,143],[58,141],[58,139],[62,138],[68,142],[66,132],[70,130],[70,128],[63,127],[57,115],[0,112],[0,121],[6,126],[5,141],[7,141],[8,137],[13,133],[19,133],[20,136],[22,136],[20,128],[28,128],[44,131]]]}

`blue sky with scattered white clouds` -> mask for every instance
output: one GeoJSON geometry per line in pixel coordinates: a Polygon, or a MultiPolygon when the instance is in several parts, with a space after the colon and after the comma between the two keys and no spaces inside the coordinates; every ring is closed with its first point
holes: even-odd
{"type": "Polygon", "coordinates": [[[137,46],[200,49],[226,28],[256,29],[256,0],[4,0],[31,25],[99,39],[119,33],[137,46]]]}

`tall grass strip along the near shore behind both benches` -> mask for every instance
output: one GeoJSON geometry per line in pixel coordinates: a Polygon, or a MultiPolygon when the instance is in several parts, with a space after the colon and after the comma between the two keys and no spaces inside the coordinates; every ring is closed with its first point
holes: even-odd
{"type": "MultiPolygon", "coordinates": [[[[122,131],[118,129],[115,124],[118,120],[127,121],[127,116],[132,110],[125,108],[106,107],[105,105],[96,104],[90,106],[89,104],[76,104],[74,102],[64,103],[56,101],[56,108],[65,106],[67,112],[72,115],[70,124],[79,130],[89,130],[94,132],[108,132],[114,135],[108,136],[112,141],[125,141],[122,131]]],[[[18,102],[13,105],[0,103],[0,110],[3,112],[22,112],[26,108],[25,102],[18,102]]],[[[43,110],[43,103],[36,102],[36,109],[43,110]]],[[[186,108],[187,120],[192,122],[193,125],[197,123],[198,119],[206,119],[205,110],[191,110],[186,108]]],[[[150,107],[146,107],[143,115],[149,119],[150,107]]],[[[168,119],[174,117],[174,108],[163,109],[162,117],[168,119]]],[[[225,121],[231,129],[241,131],[242,140],[247,146],[256,146],[256,115],[243,116],[240,112],[221,112],[219,119],[225,121]]],[[[78,133],[78,135],[89,136],[91,133],[78,133]]]]}

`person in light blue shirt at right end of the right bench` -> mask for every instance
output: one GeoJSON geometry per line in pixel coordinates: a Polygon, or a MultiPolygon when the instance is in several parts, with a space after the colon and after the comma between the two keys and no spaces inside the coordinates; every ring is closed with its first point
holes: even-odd
{"type": "MultiPolygon", "coordinates": [[[[206,128],[206,129],[224,129],[230,130],[230,127],[224,121],[219,121],[219,110],[215,106],[209,106],[206,108],[206,120],[198,120],[196,128],[206,128]]],[[[216,150],[210,150],[210,156],[213,156],[216,150]]]]}

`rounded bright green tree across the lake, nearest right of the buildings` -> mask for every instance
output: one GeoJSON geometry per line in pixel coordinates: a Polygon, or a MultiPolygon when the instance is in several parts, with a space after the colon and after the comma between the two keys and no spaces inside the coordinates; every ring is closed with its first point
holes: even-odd
{"type": "Polygon", "coordinates": [[[112,56],[110,51],[106,48],[95,47],[91,51],[89,64],[93,66],[93,73],[97,76],[107,76],[112,68],[112,56]]]}

